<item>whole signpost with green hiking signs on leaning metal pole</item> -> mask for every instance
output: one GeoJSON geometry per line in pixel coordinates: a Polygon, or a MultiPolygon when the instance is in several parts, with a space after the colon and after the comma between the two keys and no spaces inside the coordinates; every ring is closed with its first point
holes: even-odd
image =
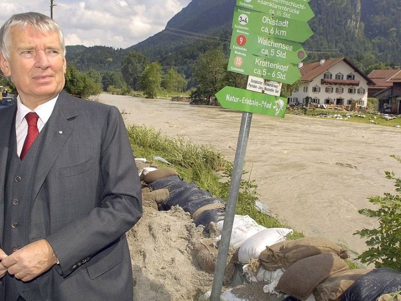
{"type": "MultiPolygon", "coordinates": [[[[226,86],[216,93],[222,107],[243,111],[243,115],[211,301],[221,299],[252,114],[284,117],[287,99],[276,96],[280,91],[275,85],[293,84],[301,77],[296,64],[306,57],[306,53],[297,42],[304,42],[313,34],[306,23],[314,16],[308,2],[309,0],[237,0],[227,70],[249,75],[250,78],[248,90],[226,86]],[[253,76],[256,78],[253,79],[253,76]],[[268,91],[274,95],[255,92],[265,92],[265,79],[275,81],[271,84],[274,92],[268,91]]],[[[268,85],[267,89],[269,88],[271,86],[268,85]]]]}

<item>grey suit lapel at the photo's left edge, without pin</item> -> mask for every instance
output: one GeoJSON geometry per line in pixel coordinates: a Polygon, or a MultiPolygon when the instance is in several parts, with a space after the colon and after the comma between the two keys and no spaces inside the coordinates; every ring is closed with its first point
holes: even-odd
{"type": "Polygon", "coordinates": [[[2,109],[0,113],[0,129],[2,131],[0,139],[0,162],[3,168],[0,168],[0,248],[3,241],[3,227],[4,227],[4,193],[6,184],[6,162],[9,156],[10,138],[12,131],[16,130],[15,115],[17,112],[17,105],[12,108],[2,109]]]}

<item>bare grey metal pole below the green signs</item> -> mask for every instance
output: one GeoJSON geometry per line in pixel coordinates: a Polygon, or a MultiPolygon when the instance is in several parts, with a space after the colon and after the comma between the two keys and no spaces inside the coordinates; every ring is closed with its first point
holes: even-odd
{"type": "Polygon", "coordinates": [[[223,222],[222,238],[219,245],[219,254],[216,262],[215,277],[211,292],[211,301],[220,301],[223,279],[226,271],[227,258],[230,248],[231,232],[233,230],[235,210],[244,170],[245,153],[247,151],[249,131],[251,129],[252,113],[243,112],[240,134],[238,136],[237,150],[234,159],[233,175],[229,198],[226,205],[226,214],[223,222]]]}

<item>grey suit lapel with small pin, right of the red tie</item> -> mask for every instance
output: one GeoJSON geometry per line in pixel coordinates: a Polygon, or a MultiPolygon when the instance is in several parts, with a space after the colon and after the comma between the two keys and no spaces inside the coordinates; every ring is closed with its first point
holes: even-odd
{"type": "Polygon", "coordinates": [[[69,119],[76,117],[78,113],[74,109],[74,100],[71,99],[73,98],[66,92],[60,93],[53,113],[45,126],[46,128],[44,128],[46,132],[44,132],[43,144],[39,150],[40,156],[32,194],[34,200],[61,149],[74,130],[69,119]]]}

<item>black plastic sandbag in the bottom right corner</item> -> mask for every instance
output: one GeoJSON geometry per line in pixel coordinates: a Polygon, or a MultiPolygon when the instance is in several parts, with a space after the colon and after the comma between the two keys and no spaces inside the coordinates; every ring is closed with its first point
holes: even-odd
{"type": "Polygon", "coordinates": [[[376,301],[386,293],[401,290],[401,272],[377,268],[359,277],[342,295],[341,301],[376,301]]]}

